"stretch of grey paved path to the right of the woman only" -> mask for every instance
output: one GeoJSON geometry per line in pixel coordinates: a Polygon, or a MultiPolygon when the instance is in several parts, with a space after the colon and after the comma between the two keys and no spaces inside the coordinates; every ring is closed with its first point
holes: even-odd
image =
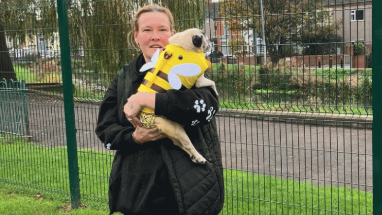
{"type": "Polygon", "coordinates": [[[225,168],[372,191],[372,130],[225,116],[225,168]]]}

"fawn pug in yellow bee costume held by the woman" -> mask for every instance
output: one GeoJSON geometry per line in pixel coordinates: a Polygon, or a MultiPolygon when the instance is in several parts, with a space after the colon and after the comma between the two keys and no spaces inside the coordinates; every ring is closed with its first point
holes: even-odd
{"type": "MultiPolygon", "coordinates": [[[[217,96],[215,82],[207,79],[204,72],[211,67],[204,52],[211,47],[205,33],[193,28],[174,34],[169,44],[159,55],[159,49],[151,62],[140,69],[141,72],[151,69],[145,75],[137,92],[166,92],[169,89],[190,89],[195,87],[212,87],[217,96]]],[[[211,116],[212,117],[212,116],[211,116]]],[[[143,108],[139,119],[145,128],[158,127],[173,143],[185,150],[194,163],[204,164],[206,159],[195,149],[183,126],[162,116],[154,114],[154,110],[143,108]]]]}

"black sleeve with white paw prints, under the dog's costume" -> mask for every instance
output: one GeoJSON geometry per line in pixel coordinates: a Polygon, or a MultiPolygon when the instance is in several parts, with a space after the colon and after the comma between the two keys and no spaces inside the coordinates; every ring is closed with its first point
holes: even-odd
{"type": "Polygon", "coordinates": [[[210,87],[168,90],[156,95],[155,114],[184,126],[207,124],[218,110],[218,98],[210,87]]]}

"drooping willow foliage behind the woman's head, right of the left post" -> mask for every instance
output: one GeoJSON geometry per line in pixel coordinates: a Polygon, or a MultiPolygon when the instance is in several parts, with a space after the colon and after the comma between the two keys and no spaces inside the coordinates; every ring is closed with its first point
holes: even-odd
{"type": "Polygon", "coordinates": [[[174,14],[178,31],[204,25],[202,0],[81,0],[71,3],[68,10],[71,47],[83,47],[86,64],[96,73],[106,74],[109,80],[139,54],[130,32],[134,13],[143,5],[157,3],[168,7],[174,14]]]}

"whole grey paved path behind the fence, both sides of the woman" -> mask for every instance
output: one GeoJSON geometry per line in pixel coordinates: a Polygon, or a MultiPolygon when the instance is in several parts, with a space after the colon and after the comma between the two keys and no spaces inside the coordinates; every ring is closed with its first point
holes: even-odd
{"type": "MultiPolygon", "coordinates": [[[[29,103],[32,141],[65,145],[63,102],[29,103]]],[[[94,133],[97,114],[97,104],[75,104],[78,147],[105,150],[94,133]]],[[[226,114],[217,117],[224,168],[372,191],[372,130],[363,122],[341,127],[338,118],[331,125],[315,125],[312,120],[289,123],[279,116],[226,114]]]]}

